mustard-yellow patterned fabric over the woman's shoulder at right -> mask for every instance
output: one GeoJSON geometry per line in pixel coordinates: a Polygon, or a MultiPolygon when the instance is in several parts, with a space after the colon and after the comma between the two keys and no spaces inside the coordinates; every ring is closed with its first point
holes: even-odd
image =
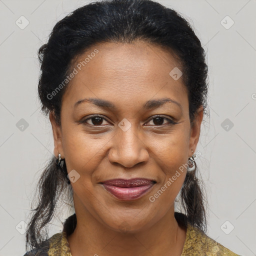
{"type": "Polygon", "coordinates": [[[188,224],[186,241],[181,256],[239,256],[207,236],[201,229],[188,224]]]}

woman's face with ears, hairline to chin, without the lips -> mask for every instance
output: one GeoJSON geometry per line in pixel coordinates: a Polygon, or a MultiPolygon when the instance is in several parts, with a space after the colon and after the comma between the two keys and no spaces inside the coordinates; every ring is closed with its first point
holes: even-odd
{"type": "Polygon", "coordinates": [[[76,214],[94,216],[114,230],[123,223],[131,231],[149,227],[173,207],[186,169],[172,177],[195,151],[203,111],[190,127],[182,76],[169,74],[181,67],[158,46],[102,43],[79,55],[73,67],[77,72],[62,98],[61,126],[52,113],[50,121],[54,154],[61,153],[74,176],[76,214]],[[86,57],[86,64],[79,64],[86,57]],[[102,184],[133,178],[154,182],[139,197],[126,199],[102,184]]]}

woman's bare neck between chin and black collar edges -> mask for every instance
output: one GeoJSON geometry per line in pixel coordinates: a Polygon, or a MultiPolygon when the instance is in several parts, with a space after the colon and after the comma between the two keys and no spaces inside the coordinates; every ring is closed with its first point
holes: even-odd
{"type": "Polygon", "coordinates": [[[84,207],[76,210],[76,222],[74,231],[67,237],[72,256],[179,256],[186,234],[174,217],[174,205],[153,225],[132,233],[106,227],[84,207]]]}

